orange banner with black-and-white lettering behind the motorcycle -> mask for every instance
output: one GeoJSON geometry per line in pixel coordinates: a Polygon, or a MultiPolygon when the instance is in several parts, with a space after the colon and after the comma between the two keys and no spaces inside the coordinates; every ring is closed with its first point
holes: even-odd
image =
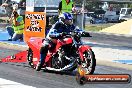
{"type": "Polygon", "coordinates": [[[46,13],[27,12],[25,13],[24,41],[27,42],[31,37],[45,37],[46,13]]]}

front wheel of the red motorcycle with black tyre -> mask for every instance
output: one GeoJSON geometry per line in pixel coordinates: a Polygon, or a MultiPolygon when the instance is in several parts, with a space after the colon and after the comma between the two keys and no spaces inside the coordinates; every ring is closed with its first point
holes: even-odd
{"type": "Polygon", "coordinates": [[[93,74],[96,66],[96,59],[92,50],[87,50],[83,53],[84,61],[82,67],[86,70],[86,74],[93,74]]]}

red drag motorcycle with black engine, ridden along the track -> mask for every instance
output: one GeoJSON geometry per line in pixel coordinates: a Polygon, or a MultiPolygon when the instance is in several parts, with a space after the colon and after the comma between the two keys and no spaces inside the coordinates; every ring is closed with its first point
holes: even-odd
{"type": "MultiPolygon", "coordinates": [[[[81,41],[82,34],[74,31],[69,34],[63,33],[61,38],[57,38],[56,45],[48,50],[43,69],[59,72],[73,71],[81,65],[87,69],[86,74],[93,74],[96,66],[95,55],[91,47],[81,41]]],[[[37,66],[40,59],[43,40],[30,38],[27,42],[29,46],[27,60],[33,68],[37,66]]]]}

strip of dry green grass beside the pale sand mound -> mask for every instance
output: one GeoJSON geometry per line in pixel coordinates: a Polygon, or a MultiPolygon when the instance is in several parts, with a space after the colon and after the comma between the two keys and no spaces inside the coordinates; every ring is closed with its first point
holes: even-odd
{"type": "Polygon", "coordinates": [[[85,25],[85,30],[86,31],[100,31],[104,28],[110,27],[114,25],[113,23],[108,23],[108,24],[88,24],[85,25]]]}

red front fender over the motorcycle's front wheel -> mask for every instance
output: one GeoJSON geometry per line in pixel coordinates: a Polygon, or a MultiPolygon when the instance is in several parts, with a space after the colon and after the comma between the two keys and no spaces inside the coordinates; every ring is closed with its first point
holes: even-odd
{"type": "Polygon", "coordinates": [[[79,55],[80,55],[80,59],[82,61],[84,61],[84,57],[83,57],[83,53],[87,50],[91,50],[91,47],[90,46],[87,46],[87,45],[81,45],[79,46],[78,48],[78,51],[79,51],[79,55]]]}

